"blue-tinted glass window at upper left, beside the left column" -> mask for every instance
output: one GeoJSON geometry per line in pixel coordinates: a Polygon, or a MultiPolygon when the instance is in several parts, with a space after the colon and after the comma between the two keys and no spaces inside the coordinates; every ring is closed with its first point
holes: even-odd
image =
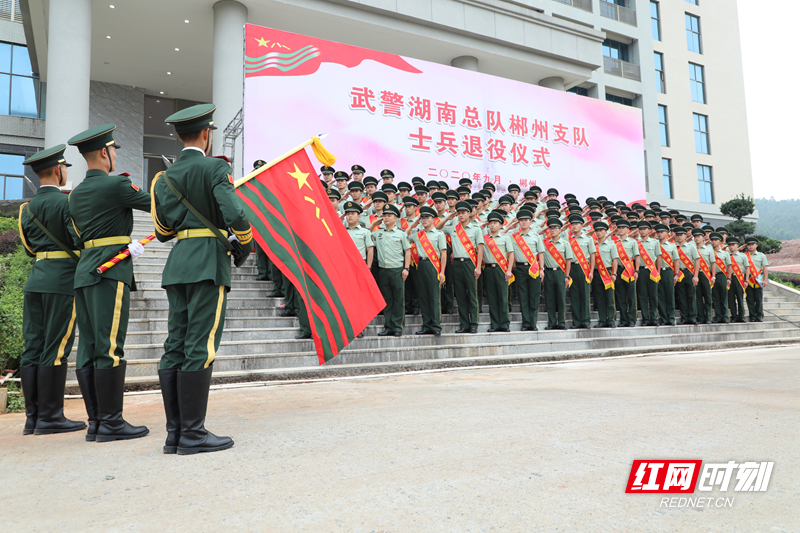
{"type": "Polygon", "coordinates": [[[28,49],[0,43],[0,115],[44,118],[43,87],[31,71],[28,49]]]}

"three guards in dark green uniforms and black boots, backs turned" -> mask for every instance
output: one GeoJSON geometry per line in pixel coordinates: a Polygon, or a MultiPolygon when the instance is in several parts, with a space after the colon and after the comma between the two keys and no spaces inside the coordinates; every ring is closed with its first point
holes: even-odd
{"type": "Polygon", "coordinates": [[[231,254],[246,256],[253,245],[230,164],[207,157],[216,129],[214,110],[214,105],[203,104],[166,119],[184,149],[168,172],[156,176],[150,193],[127,174],[111,174],[120,148],[113,124],[69,139],[89,168],[69,196],[60,190],[70,166],[64,144],[24,162],[41,183],[19,216],[22,243],[36,258],[24,288],[20,375],[25,435],[86,429],[87,441],[110,442],[149,433],[122,416],[125,337],[130,292],[136,290],[132,260],[144,251],[131,239],[137,209],[151,214],[158,240],[178,241],[162,275],[169,301],[169,333],[158,372],[167,421],[163,451],[190,455],[233,446],[229,437],[205,428],[205,416],[231,286],[231,254]],[[130,258],[101,271],[120,252],[130,258]],[[67,359],[76,324],[80,342],[75,374],[88,428],[64,417],[67,359]]]}

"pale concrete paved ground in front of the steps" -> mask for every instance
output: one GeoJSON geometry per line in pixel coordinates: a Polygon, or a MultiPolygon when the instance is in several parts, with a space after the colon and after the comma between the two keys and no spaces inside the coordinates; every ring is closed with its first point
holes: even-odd
{"type": "MultiPolygon", "coordinates": [[[[228,451],[22,437],[0,417],[5,531],[800,531],[800,348],[669,354],[212,394],[228,451]],[[730,508],[625,494],[634,459],[775,461],[730,508]]],[[[81,418],[79,400],[68,415],[81,418]]],[[[699,495],[699,493],[698,493],[699,495]]],[[[707,493],[703,493],[707,496],[707,493]]]]}

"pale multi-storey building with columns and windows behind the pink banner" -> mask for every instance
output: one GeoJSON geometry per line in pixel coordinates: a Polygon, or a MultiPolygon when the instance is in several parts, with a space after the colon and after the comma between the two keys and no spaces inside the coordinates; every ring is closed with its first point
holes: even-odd
{"type": "MultiPolygon", "coordinates": [[[[164,117],[213,101],[214,153],[240,174],[245,23],[638,107],[649,200],[722,221],[719,203],[752,195],[736,5],[705,0],[0,0],[0,53],[29,63],[0,58],[0,154],[113,122],[118,169],[147,186],[180,149],[164,117]],[[24,105],[14,83],[34,87],[24,105]]],[[[5,157],[4,194],[30,195],[5,157]]]]}

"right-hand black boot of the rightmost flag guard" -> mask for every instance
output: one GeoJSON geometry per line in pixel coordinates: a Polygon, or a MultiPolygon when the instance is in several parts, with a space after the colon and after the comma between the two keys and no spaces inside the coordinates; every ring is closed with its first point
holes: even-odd
{"type": "Polygon", "coordinates": [[[181,406],[181,438],[178,455],[218,452],[233,446],[230,437],[217,437],[205,428],[211,366],[203,370],[178,371],[178,398],[181,406]]]}

